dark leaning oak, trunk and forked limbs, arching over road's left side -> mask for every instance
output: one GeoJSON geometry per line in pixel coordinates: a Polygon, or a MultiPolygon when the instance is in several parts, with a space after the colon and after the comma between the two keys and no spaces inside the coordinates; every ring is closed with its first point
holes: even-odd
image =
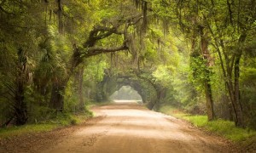
{"type": "Polygon", "coordinates": [[[108,54],[112,52],[117,52],[120,50],[126,50],[129,47],[130,37],[128,36],[128,28],[134,26],[142,19],[141,14],[132,15],[128,18],[121,20],[113,20],[107,23],[106,26],[94,26],[92,31],[90,31],[89,37],[83,43],[83,46],[78,47],[76,44],[73,44],[73,55],[69,59],[67,64],[67,76],[62,77],[59,82],[53,84],[51,99],[49,106],[51,108],[62,110],[63,109],[63,93],[65,92],[65,87],[69,80],[69,77],[73,75],[73,70],[81,64],[83,59],[89,58],[97,54],[108,54]],[[109,24],[109,26],[108,26],[109,24]],[[124,37],[123,42],[119,46],[114,46],[110,48],[97,47],[96,42],[110,37],[111,35],[120,35],[124,37]]]}

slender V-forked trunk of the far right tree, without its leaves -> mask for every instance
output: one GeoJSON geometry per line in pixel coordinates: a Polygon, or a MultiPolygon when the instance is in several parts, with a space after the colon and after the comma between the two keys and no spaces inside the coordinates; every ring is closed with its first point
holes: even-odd
{"type": "MultiPolygon", "coordinates": [[[[216,22],[216,21],[215,21],[216,22]]],[[[245,42],[246,37],[247,37],[247,31],[242,31],[241,36],[239,37],[238,44],[236,44],[236,47],[238,47],[238,50],[236,50],[235,53],[231,53],[232,57],[230,58],[230,52],[227,51],[226,47],[224,46],[224,41],[222,39],[219,39],[220,41],[218,42],[217,37],[212,31],[212,28],[209,23],[207,23],[208,28],[210,29],[212,33],[212,37],[214,37],[215,45],[218,47],[217,52],[218,52],[218,57],[220,60],[220,65],[224,74],[224,82],[225,86],[228,90],[229,96],[230,96],[230,102],[232,105],[232,109],[234,111],[234,120],[236,123],[237,127],[243,127],[244,122],[243,122],[243,117],[242,117],[242,108],[240,104],[240,94],[239,94],[239,65],[240,65],[240,59],[241,59],[241,44],[245,42]],[[221,49],[220,49],[221,48],[221,49]],[[224,59],[223,56],[224,55],[224,59]],[[235,62],[233,61],[235,59],[235,62]],[[225,63],[225,65],[224,65],[225,63]],[[235,63],[235,65],[234,65],[235,63]],[[233,73],[232,69],[235,67],[235,72],[234,72],[234,86],[233,87],[233,73]]],[[[239,27],[239,28],[244,28],[244,27],[239,27]]],[[[246,30],[246,29],[243,29],[246,30]]],[[[239,32],[239,31],[238,31],[239,32]]],[[[235,44],[234,44],[235,45],[235,44]]]]}

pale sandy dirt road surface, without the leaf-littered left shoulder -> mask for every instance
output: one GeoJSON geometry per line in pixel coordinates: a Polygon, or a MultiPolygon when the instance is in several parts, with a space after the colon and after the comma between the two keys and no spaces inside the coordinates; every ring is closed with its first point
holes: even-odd
{"type": "Polygon", "coordinates": [[[43,152],[230,152],[218,137],[136,103],[105,105],[93,111],[98,118],[89,126],[43,152]]]}

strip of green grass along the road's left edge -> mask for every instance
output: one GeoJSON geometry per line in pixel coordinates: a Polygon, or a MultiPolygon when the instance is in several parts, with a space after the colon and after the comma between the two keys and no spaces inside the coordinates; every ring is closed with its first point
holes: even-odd
{"type": "Polygon", "coordinates": [[[0,128],[0,139],[10,139],[15,136],[29,133],[43,133],[52,131],[57,128],[80,124],[89,119],[92,115],[90,111],[82,113],[57,113],[55,117],[44,120],[42,122],[28,123],[23,126],[13,126],[0,128]]]}

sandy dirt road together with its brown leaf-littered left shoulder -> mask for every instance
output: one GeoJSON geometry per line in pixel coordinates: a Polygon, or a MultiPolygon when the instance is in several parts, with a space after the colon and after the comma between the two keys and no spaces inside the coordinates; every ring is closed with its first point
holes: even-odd
{"type": "Polygon", "coordinates": [[[72,127],[0,139],[0,152],[243,152],[188,122],[119,102],[95,106],[96,117],[72,127]]]}

